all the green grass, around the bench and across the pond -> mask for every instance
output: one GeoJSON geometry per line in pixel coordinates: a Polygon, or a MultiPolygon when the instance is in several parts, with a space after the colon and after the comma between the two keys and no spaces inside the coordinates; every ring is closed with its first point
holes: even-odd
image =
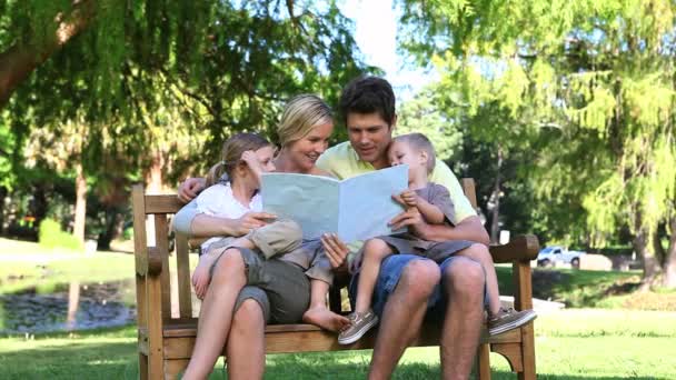
{"type": "MultiPolygon", "coordinates": [[[[191,259],[195,263],[195,259],[191,259]]],[[[0,239],[0,293],[57,283],[131,279],[133,256],[43,250],[36,243],[0,239]]],[[[503,293],[509,294],[509,267],[499,267],[503,293]]],[[[543,379],[669,379],[676,368],[676,292],[632,292],[636,272],[536,270],[534,293],[569,309],[536,320],[537,370],[543,379]],[[642,300],[639,303],[637,300],[642,300]],[[667,311],[627,311],[638,309],[667,311]]],[[[2,379],[136,379],[138,361],[132,327],[26,339],[0,338],[2,379]]],[[[270,379],[362,379],[369,351],[269,356],[270,379]]],[[[507,362],[491,354],[494,378],[514,378],[507,362]]],[[[396,379],[439,377],[438,349],[409,349],[396,379]]],[[[212,374],[222,378],[222,362],[212,374]]]]}

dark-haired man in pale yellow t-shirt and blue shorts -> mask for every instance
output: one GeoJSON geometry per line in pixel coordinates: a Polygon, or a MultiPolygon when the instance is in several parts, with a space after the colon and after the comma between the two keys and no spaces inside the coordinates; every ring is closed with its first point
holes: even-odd
{"type": "MultiPolygon", "coordinates": [[[[391,86],[381,78],[361,77],[348,83],[339,111],[346,120],[349,142],[327,150],[317,166],[340,179],[389,167],[387,149],[397,122],[395,103],[391,86]]],[[[467,249],[487,250],[488,234],[450,169],[438,161],[430,181],[448,189],[456,209],[455,227],[427,224],[414,208],[396,217],[392,228],[408,227],[426,240],[476,241],[467,249]]],[[[199,181],[187,181],[179,189],[179,197],[191,199],[200,188],[199,181]]],[[[352,258],[348,257],[348,249],[340,241],[325,242],[334,267],[346,267],[352,258]]],[[[481,266],[467,258],[454,257],[443,264],[408,254],[386,259],[374,292],[385,307],[369,378],[391,376],[426,313],[444,323],[444,378],[468,378],[484,320],[484,288],[481,266]]]]}

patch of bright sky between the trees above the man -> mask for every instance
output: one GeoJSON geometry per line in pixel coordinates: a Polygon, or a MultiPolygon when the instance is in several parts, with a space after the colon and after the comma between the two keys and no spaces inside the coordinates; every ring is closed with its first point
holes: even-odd
{"type": "Polygon", "coordinates": [[[406,67],[397,53],[397,19],[392,0],[347,0],[339,6],[356,23],[355,40],[366,63],[385,71],[399,100],[410,99],[422,86],[434,80],[433,73],[406,67]]]}

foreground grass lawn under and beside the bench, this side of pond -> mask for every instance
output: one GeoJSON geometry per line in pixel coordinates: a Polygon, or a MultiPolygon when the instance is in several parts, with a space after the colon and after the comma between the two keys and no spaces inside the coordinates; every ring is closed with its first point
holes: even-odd
{"type": "MultiPolygon", "coordinates": [[[[676,313],[571,309],[536,320],[537,371],[541,379],[673,379],[676,313]]],[[[135,330],[0,339],[3,379],[136,379],[135,330]]],[[[395,379],[439,377],[436,348],[409,349],[395,379]]],[[[364,379],[370,351],[275,354],[269,379],[364,379]]],[[[491,354],[496,379],[514,379],[491,354]]],[[[211,379],[221,379],[219,362],[211,379]]]]}

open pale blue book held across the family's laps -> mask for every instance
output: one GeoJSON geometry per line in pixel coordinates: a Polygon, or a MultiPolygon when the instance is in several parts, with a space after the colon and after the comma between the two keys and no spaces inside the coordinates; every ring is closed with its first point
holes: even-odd
{"type": "Polygon", "coordinates": [[[265,173],[261,179],[265,211],[298,222],[305,239],[336,232],[348,243],[401,232],[387,223],[404,211],[391,196],[407,188],[405,164],[342,181],[294,173],[265,173]]]}

